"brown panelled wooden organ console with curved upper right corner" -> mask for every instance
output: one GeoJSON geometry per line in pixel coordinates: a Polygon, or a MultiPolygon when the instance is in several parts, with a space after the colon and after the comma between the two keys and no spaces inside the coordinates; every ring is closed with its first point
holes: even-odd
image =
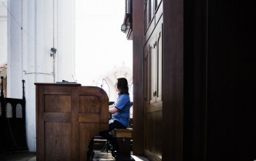
{"type": "Polygon", "coordinates": [[[106,92],[76,83],[35,86],[36,160],[85,161],[90,140],[108,129],[106,92]]]}

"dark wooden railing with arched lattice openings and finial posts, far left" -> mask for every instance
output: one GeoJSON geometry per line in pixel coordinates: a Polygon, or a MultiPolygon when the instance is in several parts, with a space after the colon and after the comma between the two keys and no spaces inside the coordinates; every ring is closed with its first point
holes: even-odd
{"type": "Polygon", "coordinates": [[[0,96],[0,153],[28,149],[25,132],[25,92],[22,99],[5,98],[3,77],[0,96]]]}

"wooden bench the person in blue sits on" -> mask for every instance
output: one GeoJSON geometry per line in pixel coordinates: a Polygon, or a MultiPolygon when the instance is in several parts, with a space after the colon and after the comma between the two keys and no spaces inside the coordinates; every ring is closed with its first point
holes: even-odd
{"type": "Polygon", "coordinates": [[[130,141],[133,139],[133,129],[114,129],[113,136],[116,137],[118,143],[118,156],[115,157],[116,160],[134,160],[130,156],[131,146],[130,141]]]}

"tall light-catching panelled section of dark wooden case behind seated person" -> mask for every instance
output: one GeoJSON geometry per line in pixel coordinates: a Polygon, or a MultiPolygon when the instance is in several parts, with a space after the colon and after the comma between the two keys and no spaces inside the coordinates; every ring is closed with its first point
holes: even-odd
{"type": "Polygon", "coordinates": [[[145,8],[144,45],[144,153],[151,160],[162,158],[163,17],[161,2],[149,0],[145,8]]]}

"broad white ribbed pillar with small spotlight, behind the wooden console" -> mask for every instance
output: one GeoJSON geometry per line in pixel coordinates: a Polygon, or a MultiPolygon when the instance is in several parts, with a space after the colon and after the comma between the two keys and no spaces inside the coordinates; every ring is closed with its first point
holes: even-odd
{"type": "Polygon", "coordinates": [[[8,0],[8,97],[22,98],[25,79],[29,151],[35,147],[35,82],[72,79],[74,27],[72,0],[8,0]],[[56,56],[50,49],[57,49],[56,56]],[[12,63],[11,63],[12,62],[12,63]]]}

